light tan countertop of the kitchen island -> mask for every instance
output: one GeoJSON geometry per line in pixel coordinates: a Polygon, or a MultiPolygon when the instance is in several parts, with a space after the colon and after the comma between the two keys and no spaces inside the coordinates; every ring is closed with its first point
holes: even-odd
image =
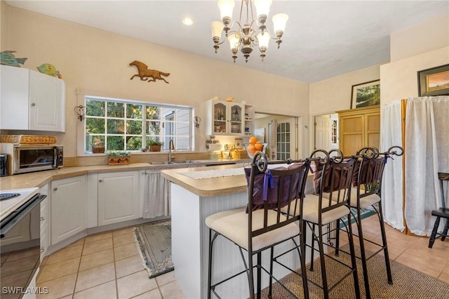
{"type": "Polygon", "coordinates": [[[243,168],[243,164],[210,166],[207,168],[178,168],[161,171],[162,176],[186,190],[200,197],[214,197],[217,195],[246,192],[246,178],[244,174],[228,175],[219,178],[194,179],[182,173],[196,171],[213,171],[230,168],[243,168]]]}

